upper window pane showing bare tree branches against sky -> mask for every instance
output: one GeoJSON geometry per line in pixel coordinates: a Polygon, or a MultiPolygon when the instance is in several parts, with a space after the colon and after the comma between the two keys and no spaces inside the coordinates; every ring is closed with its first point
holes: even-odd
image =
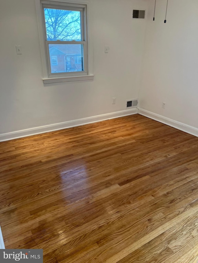
{"type": "Polygon", "coordinates": [[[44,8],[48,41],[81,41],[81,12],[44,8]]]}

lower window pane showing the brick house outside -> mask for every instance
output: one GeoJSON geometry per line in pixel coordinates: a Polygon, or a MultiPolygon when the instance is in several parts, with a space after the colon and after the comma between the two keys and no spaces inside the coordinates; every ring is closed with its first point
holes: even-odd
{"type": "Polygon", "coordinates": [[[83,46],[81,44],[49,44],[51,73],[84,71],[83,46]]]}

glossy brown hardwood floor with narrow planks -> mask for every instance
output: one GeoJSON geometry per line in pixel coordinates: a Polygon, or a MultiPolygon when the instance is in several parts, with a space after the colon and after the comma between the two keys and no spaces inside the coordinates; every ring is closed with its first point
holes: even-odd
{"type": "Polygon", "coordinates": [[[0,143],[7,249],[45,263],[198,261],[198,138],[140,115],[0,143]]]}

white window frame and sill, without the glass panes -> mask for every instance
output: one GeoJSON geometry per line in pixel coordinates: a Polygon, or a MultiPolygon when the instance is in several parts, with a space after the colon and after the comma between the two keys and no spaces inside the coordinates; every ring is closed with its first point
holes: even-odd
{"type": "MultiPolygon", "coordinates": [[[[37,11],[37,22],[38,22],[38,33],[39,33],[39,41],[41,47],[41,61],[43,68],[43,82],[44,84],[48,83],[56,83],[56,82],[64,82],[64,81],[76,81],[76,80],[93,80],[93,61],[92,61],[92,53],[93,47],[90,39],[90,16],[89,16],[89,1],[84,0],[35,0],[36,2],[36,11],[37,11]],[[84,44],[84,71],[83,72],[64,72],[64,73],[51,73],[50,68],[50,58],[49,51],[47,51],[48,44],[50,41],[46,40],[45,33],[45,18],[43,8],[47,6],[53,6],[53,8],[65,8],[71,7],[77,9],[84,10],[84,19],[83,23],[83,32],[84,38],[82,39],[85,42],[84,44]]],[[[72,44],[81,44],[82,41],[69,41],[72,44]]],[[[54,43],[54,41],[53,41],[54,43]]],[[[67,44],[67,41],[57,41],[57,44],[67,44]]]]}

